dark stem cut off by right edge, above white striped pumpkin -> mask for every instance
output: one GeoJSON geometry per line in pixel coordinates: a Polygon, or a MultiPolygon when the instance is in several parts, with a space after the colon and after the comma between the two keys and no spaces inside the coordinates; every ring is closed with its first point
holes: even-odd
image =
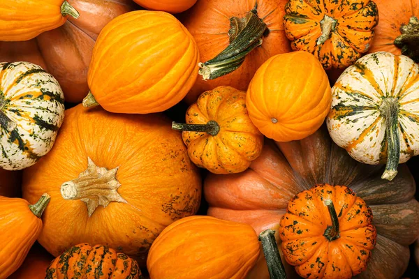
{"type": "Polygon", "coordinates": [[[400,27],[402,35],[395,39],[396,47],[402,49],[402,54],[409,56],[416,63],[419,62],[419,20],[418,17],[411,17],[409,24],[402,24],[400,27]]]}

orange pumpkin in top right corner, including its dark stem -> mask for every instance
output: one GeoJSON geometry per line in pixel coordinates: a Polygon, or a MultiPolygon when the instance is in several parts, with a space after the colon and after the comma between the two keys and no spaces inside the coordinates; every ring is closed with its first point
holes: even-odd
{"type": "Polygon", "coordinates": [[[391,52],[419,62],[419,2],[374,0],[380,20],[369,53],[391,52]]]}

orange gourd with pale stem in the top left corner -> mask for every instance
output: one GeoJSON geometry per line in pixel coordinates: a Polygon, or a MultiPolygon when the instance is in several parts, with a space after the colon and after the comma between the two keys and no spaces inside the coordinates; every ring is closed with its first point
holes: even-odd
{"type": "Polygon", "coordinates": [[[78,11],[63,0],[1,0],[0,40],[30,40],[44,31],[60,27],[78,11]]]}

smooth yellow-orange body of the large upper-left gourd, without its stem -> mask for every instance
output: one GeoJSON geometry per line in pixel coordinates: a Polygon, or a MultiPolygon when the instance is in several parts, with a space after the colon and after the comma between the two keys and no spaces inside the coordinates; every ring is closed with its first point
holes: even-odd
{"type": "Polygon", "coordinates": [[[163,112],[191,89],[198,62],[193,37],[175,17],[137,10],[116,17],[99,34],[89,89],[109,112],[163,112]]]}

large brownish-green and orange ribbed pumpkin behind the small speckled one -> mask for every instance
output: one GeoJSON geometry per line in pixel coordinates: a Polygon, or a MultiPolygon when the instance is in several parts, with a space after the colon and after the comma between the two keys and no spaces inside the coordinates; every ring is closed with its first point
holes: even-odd
{"type": "MultiPolygon", "coordinates": [[[[323,127],[300,141],[266,141],[245,172],[209,174],[204,183],[208,215],[247,223],[256,233],[265,229],[279,232],[279,220],[295,195],[321,183],[348,186],[372,209],[377,232],[367,269],[358,278],[400,278],[409,264],[408,246],[419,236],[419,202],[414,198],[416,184],[408,167],[399,165],[398,169],[392,181],[381,179],[382,166],[353,160],[323,127]]],[[[276,237],[281,246],[279,233],[276,237]]],[[[295,278],[289,264],[283,262],[288,277],[295,278]]],[[[263,261],[259,264],[261,273],[266,266],[263,261]]],[[[253,278],[269,277],[255,274],[253,278]]]]}

